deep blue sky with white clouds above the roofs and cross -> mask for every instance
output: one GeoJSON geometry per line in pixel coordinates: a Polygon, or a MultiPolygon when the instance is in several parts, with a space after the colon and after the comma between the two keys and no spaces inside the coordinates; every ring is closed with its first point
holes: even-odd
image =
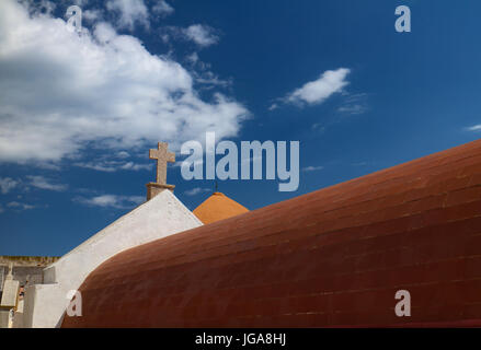
{"type": "MultiPolygon", "coordinates": [[[[256,209],[478,139],[480,10],[474,1],[2,0],[0,255],[62,255],[128,212],[154,180],[157,141],[177,159],[182,142],[207,130],[237,143],[300,141],[297,191],[219,182],[256,209]],[[76,2],[81,39],[64,31],[76,2]],[[411,9],[411,33],[394,30],[400,4],[411,9]],[[341,69],[342,88],[313,103],[289,100],[341,69]]],[[[184,180],[179,166],[168,183],[190,209],[214,187],[184,180]]]]}

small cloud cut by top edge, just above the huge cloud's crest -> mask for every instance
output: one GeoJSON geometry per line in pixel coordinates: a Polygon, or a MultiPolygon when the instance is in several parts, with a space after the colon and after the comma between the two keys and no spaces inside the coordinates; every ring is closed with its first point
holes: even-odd
{"type": "Polygon", "coordinates": [[[146,28],[149,24],[149,10],[142,0],[108,0],[105,3],[108,11],[118,14],[117,26],[133,31],[135,24],[139,23],[146,28]]]}

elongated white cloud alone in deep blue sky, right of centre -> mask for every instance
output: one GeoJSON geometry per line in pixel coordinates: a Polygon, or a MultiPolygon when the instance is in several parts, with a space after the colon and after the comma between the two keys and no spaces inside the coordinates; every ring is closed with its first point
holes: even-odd
{"type": "MultiPolygon", "coordinates": [[[[301,88],[287,94],[282,101],[284,103],[293,103],[297,105],[314,105],[323,103],[332,94],[342,92],[343,88],[348,84],[345,80],[348,73],[350,69],[347,68],[327,70],[319,77],[319,79],[307,82],[301,88]]],[[[271,108],[275,107],[276,106],[274,105],[271,106],[271,108]]]]}

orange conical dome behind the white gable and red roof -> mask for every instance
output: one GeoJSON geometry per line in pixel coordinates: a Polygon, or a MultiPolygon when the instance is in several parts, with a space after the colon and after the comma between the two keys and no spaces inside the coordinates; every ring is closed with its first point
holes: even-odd
{"type": "Polygon", "coordinates": [[[239,205],[221,192],[214,192],[194,210],[194,214],[203,223],[208,224],[248,212],[249,209],[239,205]]]}

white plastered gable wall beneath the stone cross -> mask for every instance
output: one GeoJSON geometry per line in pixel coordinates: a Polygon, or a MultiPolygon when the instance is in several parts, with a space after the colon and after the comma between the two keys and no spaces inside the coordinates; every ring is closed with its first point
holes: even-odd
{"type": "Polygon", "coordinates": [[[22,326],[59,327],[69,291],[78,290],[102,262],[123,250],[202,224],[170,190],[161,191],[48,266],[44,283],[25,290],[22,326]]]}

